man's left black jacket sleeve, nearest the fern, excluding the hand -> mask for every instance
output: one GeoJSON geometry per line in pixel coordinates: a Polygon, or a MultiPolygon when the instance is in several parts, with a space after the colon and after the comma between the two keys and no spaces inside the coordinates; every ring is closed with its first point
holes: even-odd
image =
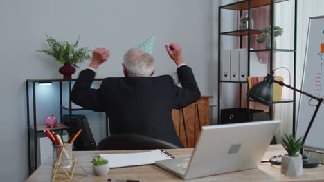
{"type": "Polygon", "coordinates": [[[104,112],[105,97],[104,88],[102,87],[105,80],[102,82],[100,88],[93,89],[90,87],[94,77],[95,72],[93,70],[86,69],[80,72],[71,92],[71,100],[88,110],[104,112]]]}

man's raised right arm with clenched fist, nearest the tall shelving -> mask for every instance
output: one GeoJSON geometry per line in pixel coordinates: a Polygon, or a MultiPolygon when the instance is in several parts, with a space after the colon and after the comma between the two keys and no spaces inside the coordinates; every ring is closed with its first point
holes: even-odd
{"type": "Polygon", "coordinates": [[[172,84],[174,93],[174,109],[184,108],[199,100],[200,91],[191,68],[183,61],[181,45],[171,43],[170,45],[165,45],[165,48],[170,58],[177,65],[177,73],[182,85],[182,88],[179,88],[174,83],[172,84]]]}

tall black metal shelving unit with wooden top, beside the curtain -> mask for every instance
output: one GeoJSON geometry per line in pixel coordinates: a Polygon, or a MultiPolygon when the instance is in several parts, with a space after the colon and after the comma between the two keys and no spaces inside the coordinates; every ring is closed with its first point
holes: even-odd
{"type": "MultiPolygon", "coordinates": [[[[247,81],[221,81],[220,80],[220,68],[221,68],[221,62],[222,60],[220,57],[220,50],[222,48],[221,45],[221,37],[222,36],[236,36],[240,38],[240,48],[242,48],[242,37],[246,36],[247,37],[247,50],[248,50],[248,66],[247,66],[247,76],[250,76],[250,52],[265,52],[270,54],[270,70],[273,70],[273,54],[275,53],[280,53],[280,52],[294,52],[294,87],[296,87],[296,25],[297,23],[297,0],[244,0],[244,1],[237,1],[235,3],[230,3],[224,6],[219,6],[218,10],[218,123],[220,123],[221,119],[221,103],[220,103],[220,87],[221,83],[233,83],[233,84],[239,84],[239,89],[240,89],[240,108],[242,108],[242,84],[247,84],[247,81]],[[258,8],[261,6],[270,6],[271,7],[271,23],[270,26],[274,24],[274,4],[275,3],[280,3],[283,1],[295,1],[295,7],[294,7],[294,49],[275,49],[273,48],[273,41],[271,41],[271,48],[270,49],[262,49],[262,50],[251,50],[251,35],[257,35],[261,34],[262,30],[255,30],[251,29],[251,24],[249,23],[249,28],[247,30],[234,30],[230,32],[222,32],[221,31],[221,17],[222,17],[222,9],[227,9],[227,10],[235,10],[240,12],[240,16],[242,16],[242,11],[247,10],[248,11],[248,19],[251,17],[251,9],[252,8],[258,8]]],[[[271,32],[273,32],[273,26],[271,26],[271,32]]],[[[273,34],[271,34],[271,40],[273,40],[273,34]]],[[[249,89],[249,87],[247,87],[249,89]]],[[[282,101],[277,101],[273,102],[273,104],[279,104],[279,103],[292,103],[293,104],[293,134],[295,134],[295,128],[296,128],[296,92],[294,92],[293,99],[282,99],[282,101]]],[[[247,99],[247,108],[249,108],[249,103],[253,102],[251,99],[247,99]]],[[[273,115],[273,106],[269,106],[269,112],[270,116],[272,119],[273,115]]]]}

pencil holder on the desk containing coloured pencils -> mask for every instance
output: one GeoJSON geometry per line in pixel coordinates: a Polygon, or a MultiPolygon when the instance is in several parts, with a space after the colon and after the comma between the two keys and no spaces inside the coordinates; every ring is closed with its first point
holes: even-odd
{"type": "Polygon", "coordinates": [[[73,144],[64,143],[64,145],[53,145],[53,165],[55,165],[55,161],[61,155],[62,165],[59,168],[71,168],[73,164],[72,159],[72,146],[73,144]]]}

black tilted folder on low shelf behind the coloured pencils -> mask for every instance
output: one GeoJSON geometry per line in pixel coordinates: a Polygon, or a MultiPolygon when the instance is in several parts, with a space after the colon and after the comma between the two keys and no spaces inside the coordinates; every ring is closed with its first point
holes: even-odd
{"type": "Polygon", "coordinates": [[[84,115],[69,115],[62,116],[62,122],[69,127],[68,134],[73,137],[80,129],[82,132],[73,143],[73,150],[96,150],[96,141],[93,139],[91,129],[87,118],[84,115]]]}

